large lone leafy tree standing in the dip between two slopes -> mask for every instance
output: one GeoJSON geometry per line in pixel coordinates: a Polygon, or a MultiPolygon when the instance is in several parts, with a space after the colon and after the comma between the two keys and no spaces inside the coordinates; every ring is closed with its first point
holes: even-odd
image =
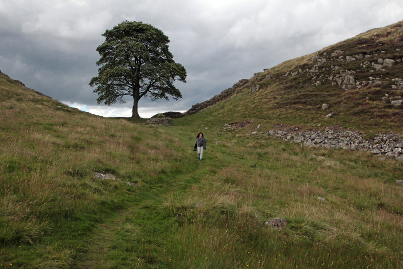
{"type": "Polygon", "coordinates": [[[97,48],[101,55],[98,77],[90,82],[96,87],[98,104],[123,104],[125,96],[131,96],[131,117],[140,118],[138,104],[142,97],[151,97],[152,101],[182,98],[173,83],[186,83],[186,70],[173,60],[169,39],[161,30],[142,22],[124,21],[102,35],[105,42],[97,48]]]}

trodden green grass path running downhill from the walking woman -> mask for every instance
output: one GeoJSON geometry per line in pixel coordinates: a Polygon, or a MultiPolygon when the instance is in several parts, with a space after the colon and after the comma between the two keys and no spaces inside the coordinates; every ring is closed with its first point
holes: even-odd
{"type": "Polygon", "coordinates": [[[169,245],[166,239],[174,233],[174,219],[161,210],[161,204],[168,193],[185,191],[199,182],[209,159],[215,159],[212,152],[207,154],[209,157],[199,162],[193,152],[186,158],[187,171],[165,175],[159,187],[141,186],[136,197],[132,197],[135,206],[116,211],[97,225],[76,267],[154,268],[153,264],[158,264],[158,268],[170,267],[160,255],[169,245]]]}

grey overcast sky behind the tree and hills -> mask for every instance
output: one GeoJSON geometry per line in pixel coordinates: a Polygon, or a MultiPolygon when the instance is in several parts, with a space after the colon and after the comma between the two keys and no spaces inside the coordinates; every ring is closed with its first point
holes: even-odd
{"type": "Polygon", "coordinates": [[[60,102],[131,116],[132,101],[97,105],[97,46],[124,20],[161,29],[184,65],[183,98],[141,99],[139,114],[185,111],[240,79],[372,28],[403,20],[401,0],[0,0],[0,70],[60,102]]]}

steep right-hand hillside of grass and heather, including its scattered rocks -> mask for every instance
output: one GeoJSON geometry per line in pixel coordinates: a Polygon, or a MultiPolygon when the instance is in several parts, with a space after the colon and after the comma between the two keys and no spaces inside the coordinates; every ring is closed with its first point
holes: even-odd
{"type": "Polygon", "coordinates": [[[228,100],[225,109],[234,118],[399,130],[402,58],[403,22],[398,22],[255,73],[234,85],[231,96],[241,97],[228,100]]]}

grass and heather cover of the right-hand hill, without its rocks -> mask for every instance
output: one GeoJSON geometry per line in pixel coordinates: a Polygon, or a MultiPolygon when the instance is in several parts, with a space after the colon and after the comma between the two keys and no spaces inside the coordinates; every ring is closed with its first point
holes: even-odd
{"type": "Polygon", "coordinates": [[[393,130],[402,133],[403,111],[401,106],[392,106],[389,98],[398,100],[399,96],[403,96],[402,90],[394,90],[391,87],[394,85],[392,79],[403,78],[403,62],[396,61],[394,66],[384,68],[385,71],[376,71],[369,66],[363,68],[360,65],[365,61],[377,63],[378,58],[401,59],[403,31],[398,31],[401,26],[403,23],[398,22],[374,29],[318,52],[283,62],[251,78],[236,95],[210,108],[208,114],[211,114],[211,118],[226,121],[259,118],[271,122],[278,119],[289,124],[312,126],[320,123],[322,126],[343,125],[363,131],[393,130]],[[342,50],[344,53],[330,57],[335,50],[342,50]],[[382,51],[384,53],[381,53],[382,51]],[[371,56],[351,62],[331,60],[339,56],[346,58],[358,54],[371,56]],[[316,63],[311,61],[316,55],[327,57],[328,61],[319,66],[318,72],[307,72],[306,70],[312,69],[316,63]],[[332,70],[331,66],[338,66],[340,69],[332,70]],[[286,72],[296,72],[298,69],[303,73],[284,76],[286,72]],[[382,84],[345,91],[339,85],[332,86],[334,81],[328,79],[329,76],[340,74],[341,70],[356,72],[353,75],[356,81],[368,81],[369,77],[374,77],[380,78],[382,84]],[[315,86],[317,81],[321,82],[319,86],[315,86]],[[251,94],[253,85],[259,85],[260,90],[251,94]],[[385,94],[388,94],[389,98],[382,100],[385,94]],[[323,103],[330,105],[328,110],[321,110],[323,103]],[[330,112],[333,117],[325,118],[330,112]]]}

